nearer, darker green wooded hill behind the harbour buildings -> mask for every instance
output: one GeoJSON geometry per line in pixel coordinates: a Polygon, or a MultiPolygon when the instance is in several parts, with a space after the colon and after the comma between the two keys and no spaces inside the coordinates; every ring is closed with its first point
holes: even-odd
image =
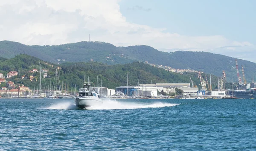
{"type": "MultiPolygon", "coordinates": [[[[75,85],[76,88],[82,87],[84,80],[88,81],[88,78],[90,82],[96,82],[97,76],[99,84],[102,84],[102,87],[115,89],[117,86],[127,84],[127,73],[128,85],[137,85],[139,80],[140,84],[150,84],[151,82],[153,84],[191,83],[189,78],[191,77],[194,84],[200,87],[197,73],[184,73],[181,75],[157,67],[152,67],[142,62],[116,65],[102,64],[99,62],[68,62],[57,65],[22,54],[11,59],[0,58],[0,73],[3,73],[3,75],[6,76],[9,71],[18,71],[18,76],[7,79],[7,81],[14,81],[15,84],[21,84],[22,82],[26,87],[38,88],[40,84],[40,73],[32,73],[30,71],[34,68],[39,71],[39,61],[41,63],[41,69],[48,70],[47,78],[42,78],[43,87],[49,87],[49,76],[52,78],[51,85],[54,85],[56,68],[58,68],[59,80],[62,84],[67,84],[70,90],[74,90],[75,85]],[[23,75],[25,75],[25,78],[20,82],[19,79],[23,75]],[[30,81],[29,76],[34,76],[35,79],[30,81]]],[[[205,74],[203,74],[203,76],[205,76],[205,74]]],[[[207,77],[209,78],[209,75],[207,75],[207,77]]],[[[217,84],[218,78],[212,76],[212,87],[217,88],[217,84]]],[[[1,84],[1,87],[5,86],[6,84],[1,84]]]]}

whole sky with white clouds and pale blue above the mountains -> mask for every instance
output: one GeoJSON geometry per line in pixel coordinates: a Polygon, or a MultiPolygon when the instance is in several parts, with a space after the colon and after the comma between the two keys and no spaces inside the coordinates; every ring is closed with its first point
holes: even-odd
{"type": "Polygon", "coordinates": [[[256,62],[256,0],[0,0],[0,41],[104,41],[256,62]]]}

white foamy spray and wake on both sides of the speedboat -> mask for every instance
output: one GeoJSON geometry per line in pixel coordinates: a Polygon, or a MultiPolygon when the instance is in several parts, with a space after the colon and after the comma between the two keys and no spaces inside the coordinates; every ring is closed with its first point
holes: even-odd
{"type": "MultiPolygon", "coordinates": [[[[178,104],[166,103],[166,102],[118,102],[116,100],[104,100],[102,105],[87,107],[87,110],[122,110],[122,109],[139,109],[139,108],[157,108],[157,107],[172,107],[178,104]]],[[[52,110],[77,110],[75,103],[73,102],[58,102],[52,104],[44,109],[52,110]]]]}

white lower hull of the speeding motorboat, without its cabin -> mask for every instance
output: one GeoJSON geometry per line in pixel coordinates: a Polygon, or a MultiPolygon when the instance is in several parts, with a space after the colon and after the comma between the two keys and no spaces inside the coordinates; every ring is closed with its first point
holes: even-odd
{"type": "Polygon", "coordinates": [[[99,99],[97,97],[77,97],[75,99],[76,106],[84,109],[86,107],[90,106],[99,106],[102,105],[102,99],[99,99]]]}

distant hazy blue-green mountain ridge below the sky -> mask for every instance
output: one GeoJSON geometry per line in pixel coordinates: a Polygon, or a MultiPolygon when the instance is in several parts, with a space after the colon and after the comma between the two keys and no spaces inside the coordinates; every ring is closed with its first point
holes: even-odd
{"type": "MultiPolygon", "coordinates": [[[[116,47],[104,42],[78,42],[58,46],[26,46],[17,42],[0,41],[0,53],[3,58],[13,58],[18,54],[28,54],[43,61],[61,64],[65,62],[97,61],[103,64],[127,64],[134,61],[148,61],[177,69],[192,69],[221,76],[226,72],[227,80],[236,81],[236,58],[209,52],[160,52],[150,46],[116,47]]],[[[245,77],[250,82],[255,76],[256,64],[237,59],[240,76],[241,65],[245,77]]]]}

